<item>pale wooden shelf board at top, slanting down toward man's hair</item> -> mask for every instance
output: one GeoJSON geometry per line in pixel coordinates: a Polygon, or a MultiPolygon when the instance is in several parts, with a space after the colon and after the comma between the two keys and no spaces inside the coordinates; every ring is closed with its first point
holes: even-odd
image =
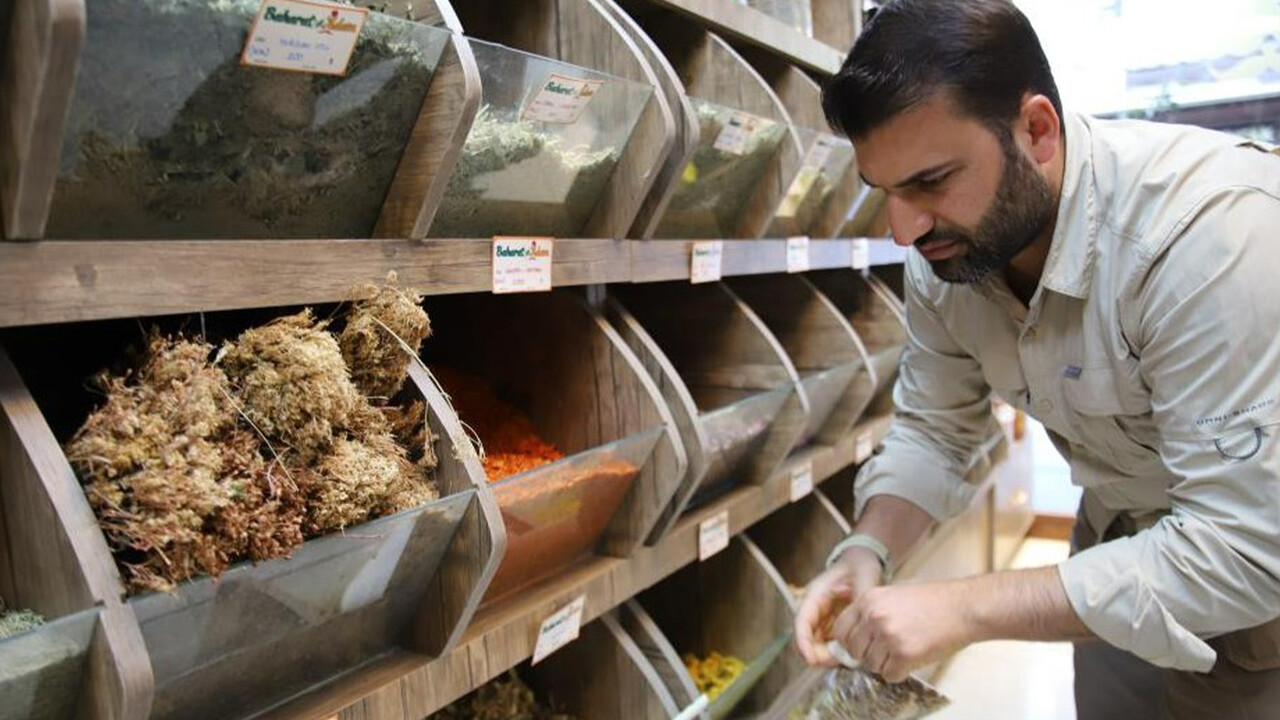
{"type": "Polygon", "coordinates": [[[841,50],[732,0],[649,0],[689,15],[716,32],[758,45],[787,60],[832,76],[845,60],[841,50]]]}

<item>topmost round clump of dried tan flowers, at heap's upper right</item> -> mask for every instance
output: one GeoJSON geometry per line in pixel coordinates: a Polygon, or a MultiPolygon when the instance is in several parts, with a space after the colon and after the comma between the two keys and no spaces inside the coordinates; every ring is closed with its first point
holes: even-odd
{"type": "Polygon", "coordinates": [[[360,288],[360,300],[347,314],[347,327],[338,338],[351,379],[371,397],[394,397],[408,377],[408,352],[417,355],[422,341],[431,337],[422,295],[392,282],[360,288]]]}

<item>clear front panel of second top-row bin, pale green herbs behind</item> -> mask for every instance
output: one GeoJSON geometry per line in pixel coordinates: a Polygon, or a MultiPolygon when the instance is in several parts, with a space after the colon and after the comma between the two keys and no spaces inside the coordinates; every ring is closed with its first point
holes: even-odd
{"type": "Polygon", "coordinates": [[[653,87],[468,40],[483,97],[431,237],[581,237],[653,87]]]}

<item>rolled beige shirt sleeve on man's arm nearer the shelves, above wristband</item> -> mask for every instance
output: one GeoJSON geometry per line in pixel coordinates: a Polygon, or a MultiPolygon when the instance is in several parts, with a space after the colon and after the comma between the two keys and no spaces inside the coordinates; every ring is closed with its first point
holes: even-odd
{"type": "Polygon", "coordinates": [[[960,514],[977,489],[964,480],[974,450],[996,432],[982,366],[920,291],[923,263],[906,261],[908,341],[893,387],[896,413],[881,451],[855,480],[855,519],[877,495],[914,502],[937,521],[960,514]]]}

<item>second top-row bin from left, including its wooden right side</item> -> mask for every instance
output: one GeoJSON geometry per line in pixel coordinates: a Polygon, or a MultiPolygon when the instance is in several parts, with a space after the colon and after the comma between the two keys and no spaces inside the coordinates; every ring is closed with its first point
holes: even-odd
{"type": "Polygon", "coordinates": [[[626,237],[676,141],[626,29],[598,0],[456,10],[475,38],[483,105],[430,234],[626,237]]]}

